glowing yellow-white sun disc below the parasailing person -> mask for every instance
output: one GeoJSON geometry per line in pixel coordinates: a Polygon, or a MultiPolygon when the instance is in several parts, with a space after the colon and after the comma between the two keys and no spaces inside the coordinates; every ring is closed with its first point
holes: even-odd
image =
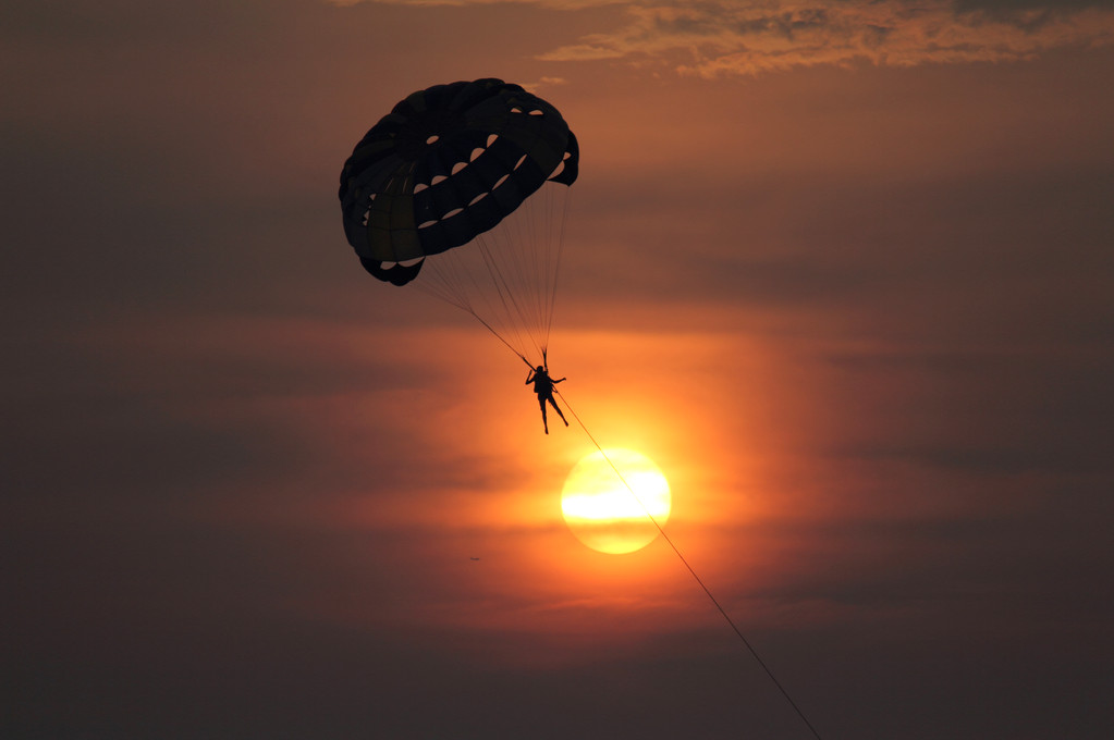
{"type": "Polygon", "coordinates": [[[658,535],[649,516],[658,524],[670,517],[670,483],[643,454],[623,448],[597,451],[582,457],[569,472],[560,510],[573,534],[593,550],[616,555],[634,552],[658,535]]]}

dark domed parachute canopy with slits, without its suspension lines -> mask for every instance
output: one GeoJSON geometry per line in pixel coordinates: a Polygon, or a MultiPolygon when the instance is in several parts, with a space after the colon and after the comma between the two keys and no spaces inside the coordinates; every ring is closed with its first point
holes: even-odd
{"type": "Polygon", "coordinates": [[[547,180],[571,185],[576,137],[551,105],[498,79],[437,85],[394,106],[344,162],[344,234],[381,280],[494,228],[547,180]]]}

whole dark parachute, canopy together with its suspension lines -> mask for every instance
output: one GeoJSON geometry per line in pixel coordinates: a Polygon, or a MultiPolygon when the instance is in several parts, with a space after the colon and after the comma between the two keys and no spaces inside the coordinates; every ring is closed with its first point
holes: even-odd
{"type": "Polygon", "coordinates": [[[378,279],[468,312],[527,363],[544,358],[578,161],[560,112],[518,85],[419,90],[344,162],[344,235],[378,279]]]}

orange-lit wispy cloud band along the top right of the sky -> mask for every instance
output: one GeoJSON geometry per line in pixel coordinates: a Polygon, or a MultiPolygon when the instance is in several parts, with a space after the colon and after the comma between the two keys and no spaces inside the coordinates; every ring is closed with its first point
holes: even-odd
{"type": "MultiPolygon", "coordinates": [[[[334,0],[353,4],[358,0],[334,0]]],[[[390,1],[390,0],[388,0],[390,1]]],[[[501,0],[394,0],[491,4],[501,0]]],[[[545,8],[623,7],[593,0],[527,0],[545,8]]],[[[703,78],[818,65],[1003,62],[1053,49],[1114,42],[1111,3],[1081,0],[642,0],[625,23],[538,56],[546,61],[661,63],[703,78]]]]}

